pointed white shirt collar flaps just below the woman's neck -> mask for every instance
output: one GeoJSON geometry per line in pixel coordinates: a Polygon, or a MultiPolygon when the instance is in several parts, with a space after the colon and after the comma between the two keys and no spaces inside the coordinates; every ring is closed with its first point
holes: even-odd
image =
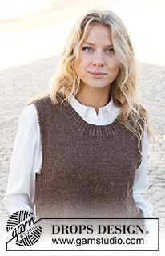
{"type": "MultiPolygon", "coordinates": [[[[74,95],[70,96],[70,104],[72,108],[74,108],[80,116],[84,116],[87,112],[87,109],[89,108],[94,108],[90,106],[85,106],[81,104],[75,97],[74,95]]],[[[111,99],[106,106],[103,106],[99,108],[99,112],[103,111],[104,109],[107,110],[112,115],[115,115],[116,112],[119,112],[119,107],[116,107],[113,103],[113,100],[111,99]]]]}

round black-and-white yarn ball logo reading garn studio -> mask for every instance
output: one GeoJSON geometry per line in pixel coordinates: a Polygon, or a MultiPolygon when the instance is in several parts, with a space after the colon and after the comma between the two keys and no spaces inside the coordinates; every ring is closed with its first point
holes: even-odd
{"type": "Polygon", "coordinates": [[[6,230],[11,230],[18,246],[32,246],[42,234],[42,228],[34,223],[33,213],[28,211],[13,213],[7,221],[6,230]]]}

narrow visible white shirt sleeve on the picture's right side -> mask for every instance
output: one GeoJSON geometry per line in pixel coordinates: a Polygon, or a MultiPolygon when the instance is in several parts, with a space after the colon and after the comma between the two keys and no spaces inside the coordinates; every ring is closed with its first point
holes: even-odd
{"type": "Polygon", "coordinates": [[[142,149],[142,161],[139,168],[135,173],[135,181],[133,185],[133,197],[135,204],[143,210],[144,217],[153,217],[153,206],[145,201],[141,193],[146,193],[148,189],[147,179],[147,158],[148,158],[148,134],[147,130],[144,130],[143,134],[143,149],[142,149]]]}

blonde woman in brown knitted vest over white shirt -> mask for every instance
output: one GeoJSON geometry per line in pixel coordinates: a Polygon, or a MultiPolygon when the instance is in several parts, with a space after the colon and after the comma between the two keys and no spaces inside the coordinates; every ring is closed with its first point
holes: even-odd
{"type": "Polygon", "coordinates": [[[54,85],[23,110],[4,203],[38,217],[151,217],[151,128],[137,100],[135,54],[111,11],[70,33],[54,85]],[[35,177],[36,176],[36,177],[35,177]]]}

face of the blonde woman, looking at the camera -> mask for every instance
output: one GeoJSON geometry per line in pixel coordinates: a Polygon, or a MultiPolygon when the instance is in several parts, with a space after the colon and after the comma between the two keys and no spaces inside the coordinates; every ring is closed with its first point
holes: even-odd
{"type": "Polygon", "coordinates": [[[90,26],[87,39],[80,46],[75,71],[81,84],[89,87],[107,87],[116,79],[119,62],[107,26],[90,26]]]}

